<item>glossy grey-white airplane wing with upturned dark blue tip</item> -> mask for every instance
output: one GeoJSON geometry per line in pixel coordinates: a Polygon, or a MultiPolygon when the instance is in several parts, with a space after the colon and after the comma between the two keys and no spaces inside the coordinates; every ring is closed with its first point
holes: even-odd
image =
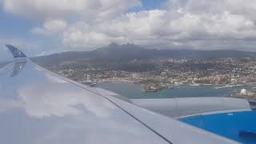
{"type": "Polygon", "coordinates": [[[237,143],[161,114],[161,105],[63,78],[7,47],[14,62],[0,70],[0,143],[237,143]]]}

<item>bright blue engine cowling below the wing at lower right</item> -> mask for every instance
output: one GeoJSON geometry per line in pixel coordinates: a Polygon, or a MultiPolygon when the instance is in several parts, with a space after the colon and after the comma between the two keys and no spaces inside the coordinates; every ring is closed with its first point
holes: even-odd
{"type": "Polygon", "coordinates": [[[256,111],[198,115],[180,121],[238,142],[256,143],[256,111]]]}

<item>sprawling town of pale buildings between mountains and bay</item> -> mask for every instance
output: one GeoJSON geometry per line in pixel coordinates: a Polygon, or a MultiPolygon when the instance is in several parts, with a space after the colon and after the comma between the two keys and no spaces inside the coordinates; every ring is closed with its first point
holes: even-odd
{"type": "MultiPolygon", "coordinates": [[[[123,63],[118,63],[123,65],[123,63]]],[[[116,64],[115,64],[116,65],[116,64]]],[[[142,66],[134,69],[112,69],[110,65],[58,66],[51,70],[78,82],[134,82],[142,83],[142,90],[162,90],[178,85],[246,85],[256,82],[256,58],[154,58],[147,61],[130,60],[125,65],[142,66]],[[147,64],[154,68],[143,69],[147,64]]],[[[122,66],[119,66],[122,67],[122,66]]]]}

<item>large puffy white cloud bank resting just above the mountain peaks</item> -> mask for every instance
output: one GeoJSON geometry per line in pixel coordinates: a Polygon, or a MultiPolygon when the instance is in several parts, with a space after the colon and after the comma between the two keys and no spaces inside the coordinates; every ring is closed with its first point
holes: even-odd
{"type": "Polygon", "coordinates": [[[110,21],[94,23],[78,22],[64,32],[64,46],[86,48],[102,46],[109,42],[135,42],[142,46],[158,48],[216,49],[233,48],[229,42],[245,40],[240,45],[245,50],[254,49],[246,39],[256,39],[254,21],[246,15],[194,14],[180,9],[150,10],[123,14],[110,21]],[[218,40],[218,41],[216,41],[218,40]]]}

